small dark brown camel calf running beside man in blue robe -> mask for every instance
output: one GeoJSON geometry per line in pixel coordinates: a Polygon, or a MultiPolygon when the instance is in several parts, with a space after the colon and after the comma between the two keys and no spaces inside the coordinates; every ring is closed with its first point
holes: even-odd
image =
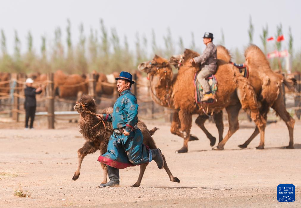
{"type": "MultiPolygon", "coordinates": [[[[96,113],[96,104],[95,100],[88,95],[82,95],[79,103],[74,106],[74,109],[79,112],[79,132],[83,135],[86,142],[82,148],[80,148],[78,153],[78,162],[77,168],[72,178],[73,181],[77,180],[80,174],[80,168],[82,165],[82,160],[87,154],[95,153],[97,150],[100,150],[100,154],[104,154],[107,152],[107,145],[110,136],[113,134],[113,127],[111,122],[105,122],[105,128],[102,123],[100,123],[97,127],[93,128],[99,120],[95,115],[89,114],[88,112],[91,111],[92,113],[96,113]],[[82,106],[85,105],[84,107],[82,106]]],[[[103,114],[110,114],[113,112],[113,108],[105,108],[102,112],[103,114]]],[[[142,132],[143,135],[143,144],[147,145],[150,149],[157,149],[154,139],[151,137],[157,130],[157,127],[154,129],[148,130],[145,123],[141,120],[138,120],[138,127],[142,132]]],[[[180,180],[177,177],[174,177],[170,172],[164,155],[164,169],[167,172],[170,181],[180,183],[180,180]]],[[[140,186],[145,168],[148,164],[140,165],[140,173],[137,182],[133,185],[134,187],[140,186]]],[[[107,165],[101,163],[102,169],[104,170],[104,178],[102,183],[107,183],[107,165]]]]}

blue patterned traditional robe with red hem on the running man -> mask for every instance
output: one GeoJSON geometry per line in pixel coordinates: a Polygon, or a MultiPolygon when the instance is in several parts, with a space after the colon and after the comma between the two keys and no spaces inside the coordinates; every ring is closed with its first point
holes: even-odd
{"type": "Polygon", "coordinates": [[[98,157],[99,162],[119,169],[151,162],[151,151],[143,144],[142,132],[137,127],[137,99],[129,89],[119,95],[113,113],[103,115],[105,121],[112,122],[114,133],[110,136],[107,152],[98,157]],[[128,136],[119,132],[123,128],[130,132],[128,136]]]}

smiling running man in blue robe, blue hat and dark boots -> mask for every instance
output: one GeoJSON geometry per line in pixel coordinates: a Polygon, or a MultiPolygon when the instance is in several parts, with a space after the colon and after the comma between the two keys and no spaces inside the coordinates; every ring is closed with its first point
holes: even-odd
{"type": "Polygon", "coordinates": [[[110,136],[107,152],[99,156],[98,161],[107,165],[110,181],[99,187],[119,185],[119,168],[141,165],[154,160],[159,169],[164,166],[160,149],[150,150],[143,142],[138,128],[138,104],[135,95],[130,91],[132,75],[121,72],[117,80],[117,91],[120,93],[114,104],[112,114],[98,114],[99,120],[112,122],[114,132],[110,136]]]}

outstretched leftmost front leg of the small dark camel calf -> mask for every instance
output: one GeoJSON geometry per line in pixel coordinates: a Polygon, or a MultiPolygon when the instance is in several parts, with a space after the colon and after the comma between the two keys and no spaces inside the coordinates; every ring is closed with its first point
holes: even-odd
{"type": "Polygon", "coordinates": [[[93,142],[86,142],[82,148],[77,150],[77,168],[72,178],[72,181],[78,179],[80,174],[80,167],[82,166],[82,160],[84,159],[84,157],[87,154],[95,153],[97,150],[99,150],[99,147],[96,146],[93,142]]]}

